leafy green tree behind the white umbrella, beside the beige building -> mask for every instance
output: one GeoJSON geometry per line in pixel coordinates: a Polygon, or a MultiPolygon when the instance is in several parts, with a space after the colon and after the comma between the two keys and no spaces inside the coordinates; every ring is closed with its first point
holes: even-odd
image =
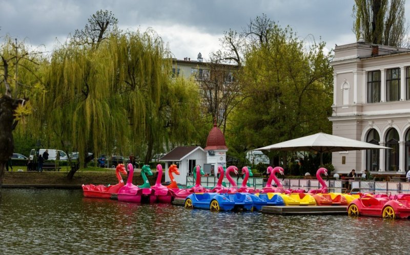
{"type": "Polygon", "coordinates": [[[237,151],[331,131],[332,68],[324,43],[306,48],[286,27],[271,24],[263,44],[245,54],[243,92],[228,141],[237,151]]]}

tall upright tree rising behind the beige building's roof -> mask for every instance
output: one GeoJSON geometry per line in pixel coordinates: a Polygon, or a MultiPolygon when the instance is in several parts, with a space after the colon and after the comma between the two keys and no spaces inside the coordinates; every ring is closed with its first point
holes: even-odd
{"type": "Polygon", "coordinates": [[[405,0],[355,0],[353,32],[357,39],[362,35],[367,43],[408,46],[404,4],[405,0]]]}

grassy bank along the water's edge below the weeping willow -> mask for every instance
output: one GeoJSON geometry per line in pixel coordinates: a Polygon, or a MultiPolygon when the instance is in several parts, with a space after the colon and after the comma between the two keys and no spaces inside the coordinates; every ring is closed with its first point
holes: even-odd
{"type": "MultiPolygon", "coordinates": [[[[114,169],[100,168],[100,171],[77,171],[72,180],[67,179],[66,171],[60,172],[5,172],[3,184],[42,184],[42,185],[81,185],[81,184],[116,184],[118,180],[114,169]]],[[[162,178],[164,176],[162,175],[162,178]]],[[[127,176],[122,175],[124,181],[127,176]]],[[[151,185],[154,185],[156,175],[148,176],[151,185]]],[[[163,181],[163,180],[162,180],[163,181]]],[[[141,185],[142,178],[139,172],[134,173],[133,184],[141,185]]]]}

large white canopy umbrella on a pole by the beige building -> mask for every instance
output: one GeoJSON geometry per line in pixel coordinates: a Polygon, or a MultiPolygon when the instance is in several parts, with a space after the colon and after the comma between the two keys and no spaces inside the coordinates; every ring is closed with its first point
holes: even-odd
{"type": "Polygon", "coordinates": [[[361,142],[353,139],[343,138],[340,136],[317,133],[301,138],[272,144],[269,146],[257,148],[254,150],[280,150],[280,151],[316,151],[320,153],[320,165],[322,165],[323,152],[336,152],[348,150],[366,150],[366,149],[390,149],[388,147],[361,142]]]}

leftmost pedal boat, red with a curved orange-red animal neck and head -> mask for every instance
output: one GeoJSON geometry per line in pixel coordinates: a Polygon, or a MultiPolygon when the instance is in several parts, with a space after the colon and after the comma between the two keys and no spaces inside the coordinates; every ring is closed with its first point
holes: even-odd
{"type": "Polygon", "coordinates": [[[124,164],[118,164],[115,168],[115,175],[117,176],[118,183],[115,185],[93,185],[93,184],[83,184],[81,187],[83,188],[84,197],[86,198],[102,198],[102,199],[109,199],[111,198],[111,194],[118,193],[118,190],[124,186],[124,181],[122,181],[121,173],[127,174],[125,170],[124,164]]]}

